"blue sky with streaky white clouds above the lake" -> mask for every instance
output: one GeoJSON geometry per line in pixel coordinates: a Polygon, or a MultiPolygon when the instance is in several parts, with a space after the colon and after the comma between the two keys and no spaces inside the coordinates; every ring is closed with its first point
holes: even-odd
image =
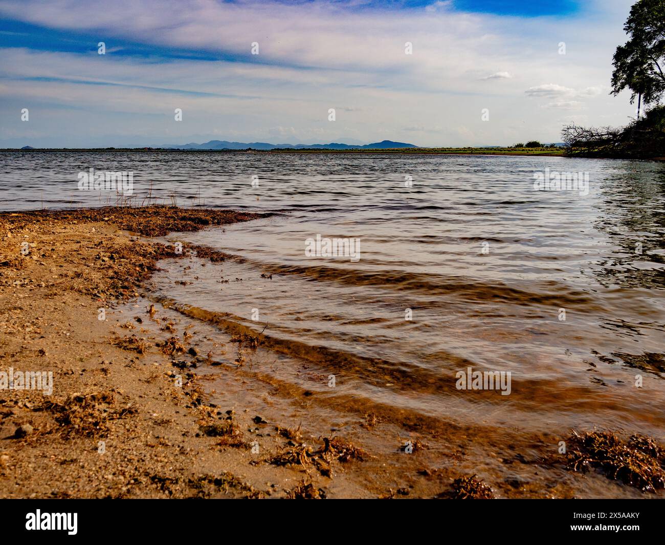
{"type": "Polygon", "coordinates": [[[631,4],[0,0],[0,148],[559,142],[635,116],[631,4]]]}

